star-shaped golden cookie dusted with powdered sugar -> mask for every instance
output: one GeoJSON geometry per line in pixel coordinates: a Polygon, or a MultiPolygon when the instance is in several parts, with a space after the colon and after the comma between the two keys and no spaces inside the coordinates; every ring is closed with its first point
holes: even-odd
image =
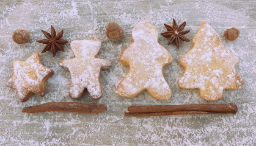
{"type": "Polygon", "coordinates": [[[26,61],[13,61],[13,75],[7,86],[15,88],[21,102],[26,102],[34,93],[42,96],[45,82],[54,72],[43,66],[41,57],[34,53],[26,61]]]}

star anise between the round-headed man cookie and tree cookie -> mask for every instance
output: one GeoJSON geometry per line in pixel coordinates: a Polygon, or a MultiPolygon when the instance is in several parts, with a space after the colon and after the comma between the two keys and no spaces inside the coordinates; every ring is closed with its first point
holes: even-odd
{"type": "Polygon", "coordinates": [[[168,45],[172,44],[172,42],[175,41],[176,46],[179,48],[180,40],[189,41],[188,38],[183,36],[186,33],[189,33],[190,31],[190,30],[183,30],[184,27],[186,26],[186,21],[184,21],[183,23],[180,24],[180,26],[178,26],[175,19],[172,19],[172,26],[169,26],[167,24],[164,24],[164,26],[166,27],[167,32],[161,33],[161,35],[163,35],[165,38],[170,38],[168,41],[168,45]]]}

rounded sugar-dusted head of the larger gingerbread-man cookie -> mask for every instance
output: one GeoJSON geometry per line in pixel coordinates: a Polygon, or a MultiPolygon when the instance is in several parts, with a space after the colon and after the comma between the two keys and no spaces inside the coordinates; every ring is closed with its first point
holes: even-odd
{"type": "Polygon", "coordinates": [[[150,23],[139,23],[133,29],[133,40],[145,40],[155,42],[158,40],[158,30],[150,23]]]}

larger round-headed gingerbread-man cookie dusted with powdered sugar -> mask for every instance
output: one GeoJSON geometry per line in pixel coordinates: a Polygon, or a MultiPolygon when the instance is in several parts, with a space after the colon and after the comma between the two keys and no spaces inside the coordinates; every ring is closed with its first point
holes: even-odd
{"type": "Polygon", "coordinates": [[[134,43],[126,47],[120,62],[130,66],[115,92],[123,97],[134,97],[145,89],[158,100],[168,100],[172,91],[163,76],[163,66],[172,56],[158,43],[158,30],[149,23],[137,24],[133,29],[134,43]]]}

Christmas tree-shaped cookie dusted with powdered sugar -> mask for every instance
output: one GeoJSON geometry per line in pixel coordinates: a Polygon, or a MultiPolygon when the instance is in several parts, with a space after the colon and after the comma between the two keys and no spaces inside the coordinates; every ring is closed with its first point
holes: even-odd
{"type": "Polygon", "coordinates": [[[178,86],[199,89],[202,99],[219,100],[224,89],[238,89],[244,84],[235,71],[236,63],[238,58],[223,46],[218,33],[203,22],[192,41],[192,49],[180,59],[185,73],[178,86]]]}

